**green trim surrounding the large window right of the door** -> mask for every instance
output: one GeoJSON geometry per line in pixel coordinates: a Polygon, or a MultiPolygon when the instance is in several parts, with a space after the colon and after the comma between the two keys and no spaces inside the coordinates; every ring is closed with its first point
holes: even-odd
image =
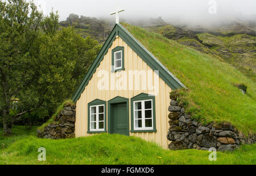
{"type": "Polygon", "coordinates": [[[131,132],[156,132],[156,124],[155,124],[155,96],[148,95],[146,93],[141,93],[133,98],[131,98],[131,132]],[[134,129],[134,101],[143,101],[143,100],[152,100],[152,130],[135,130],[134,129]]]}

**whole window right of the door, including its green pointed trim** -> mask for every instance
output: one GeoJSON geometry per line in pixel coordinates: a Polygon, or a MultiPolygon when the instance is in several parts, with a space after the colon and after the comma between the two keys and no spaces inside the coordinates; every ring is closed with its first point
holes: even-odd
{"type": "Polygon", "coordinates": [[[131,132],[156,132],[154,96],[141,93],[131,98],[131,132]]]}

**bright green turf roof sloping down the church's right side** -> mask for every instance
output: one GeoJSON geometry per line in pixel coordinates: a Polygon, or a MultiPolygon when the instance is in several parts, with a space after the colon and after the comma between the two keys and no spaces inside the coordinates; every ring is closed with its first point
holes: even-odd
{"type": "Polygon", "coordinates": [[[255,132],[256,84],[228,63],[189,49],[158,33],[122,24],[185,86],[188,109],[207,122],[230,122],[245,134],[255,132]],[[235,86],[247,85],[243,95],[235,86]]]}

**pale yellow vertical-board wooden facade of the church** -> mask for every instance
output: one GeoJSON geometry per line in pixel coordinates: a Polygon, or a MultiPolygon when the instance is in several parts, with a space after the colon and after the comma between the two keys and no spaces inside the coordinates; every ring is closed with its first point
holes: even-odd
{"type": "MultiPolygon", "coordinates": [[[[88,103],[93,100],[100,99],[108,102],[112,98],[117,96],[129,98],[129,108],[130,99],[140,93],[150,93],[148,88],[145,90],[99,90],[98,87],[98,72],[105,70],[109,72],[109,78],[112,74],[119,74],[119,72],[111,72],[112,65],[112,49],[117,46],[124,47],[124,66],[125,71],[128,74],[129,70],[152,70],[146,62],[144,62],[123,40],[121,37],[116,37],[112,46],[108,49],[108,53],[104,56],[101,61],[100,66],[98,66],[96,72],[90,79],[88,85],[86,85],[84,91],[82,92],[79,100],[76,102],[76,124],[75,124],[75,135],[76,137],[89,136],[88,134],[88,103]]],[[[128,79],[129,80],[129,79],[128,79]]],[[[155,143],[161,145],[163,148],[168,148],[169,141],[167,140],[168,133],[168,106],[170,104],[170,92],[171,88],[159,78],[159,93],[155,95],[155,120],[156,120],[156,132],[130,132],[130,136],[137,136],[147,141],[154,141],[155,143]]],[[[134,84],[133,84],[134,86],[134,84]]],[[[127,81],[127,87],[129,87],[129,81],[127,81]]],[[[152,94],[152,93],[151,93],[152,94]]],[[[106,108],[108,110],[108,108],[106,108]]],[[[108,114],[108,113],[106,113],[108,114]]],[[[108,117],[106,117],[108,120],[108,117]]],[[[131,114],[129,109],[129,126],[131,128],[131,114]]],[[[106,127],[107,128],[107,127],[106,127]]],[[[108,130],[108,129],[107,129],[108,130]]],[[[130,131],[130,130],[129,130],[130,131]]]]}

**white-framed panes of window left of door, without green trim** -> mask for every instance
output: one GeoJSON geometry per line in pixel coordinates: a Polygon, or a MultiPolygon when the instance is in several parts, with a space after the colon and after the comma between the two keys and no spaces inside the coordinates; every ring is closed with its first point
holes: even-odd
{"type": "Polygon", "coordinates": [[[104,105],[90,106],[90,131],[104,131],[104,105]]]}

